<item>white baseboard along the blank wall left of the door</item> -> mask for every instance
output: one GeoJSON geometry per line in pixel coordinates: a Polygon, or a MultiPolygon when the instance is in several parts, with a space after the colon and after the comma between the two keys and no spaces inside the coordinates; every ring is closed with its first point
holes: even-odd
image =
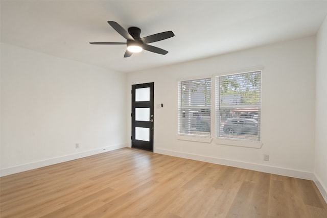
{"type": "Polygon", "coordinates": [[[127,147],[126,143],[0,169],[0,177],[127,147]]]}

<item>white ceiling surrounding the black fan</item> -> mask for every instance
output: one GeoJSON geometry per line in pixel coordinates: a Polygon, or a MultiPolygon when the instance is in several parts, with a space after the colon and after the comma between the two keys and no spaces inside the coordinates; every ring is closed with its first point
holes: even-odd
{"type": "Polygon", "coordinates": [[[315,35],[327,1],[3,1],[1,41],[49,55],[132,72],[263,44],[315,35]],[[141,28],[141,37],[173,31],[151,43],[169,51],[124,58],[126,42],[107,23],[141,28]]]}

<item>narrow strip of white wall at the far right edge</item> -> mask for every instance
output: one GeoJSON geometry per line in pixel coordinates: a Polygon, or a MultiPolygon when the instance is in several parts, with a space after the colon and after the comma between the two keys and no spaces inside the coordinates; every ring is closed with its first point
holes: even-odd
{"type": "Polygon", "coordinates": [[[316,57],[316,184],[327,202],[327,18],[317,33],[316,57]]]}

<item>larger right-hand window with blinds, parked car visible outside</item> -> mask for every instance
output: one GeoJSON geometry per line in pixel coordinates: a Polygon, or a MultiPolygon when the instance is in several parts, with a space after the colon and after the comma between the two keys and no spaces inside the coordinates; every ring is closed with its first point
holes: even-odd
{"type": "Polygon", "coordinates": [[[261,71],[216,77],[216,137],[260,141],[261,71]]]}

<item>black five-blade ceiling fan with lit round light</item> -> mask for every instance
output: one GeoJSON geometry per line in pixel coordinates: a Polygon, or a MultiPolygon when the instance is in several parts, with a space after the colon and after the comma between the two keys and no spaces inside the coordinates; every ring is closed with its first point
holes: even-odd
{"type": "Polygon", "coordinates": [[[115,31],[121,34],[127,41],[126,42],[90,42],[90,44],[126,44],[127,50],[124,54],[124,58],[130,57],[133,53],[142,52],[142,50],[147,50],[149,52],[166,55],[168,51],[160,49],[159,47],[149,45],[148,43],[168,39],[170,37],[175,36],[175,34],[172,31],[166,31],[166,32],[157,33],[141,38],[139,36],[139,34],[141,33],[141,29],[137,27],[130,27],[128,28],[128,32],[127,32],[122,26],[120,26],[115,21],[108,21],[108,23],[115,31]]]}

